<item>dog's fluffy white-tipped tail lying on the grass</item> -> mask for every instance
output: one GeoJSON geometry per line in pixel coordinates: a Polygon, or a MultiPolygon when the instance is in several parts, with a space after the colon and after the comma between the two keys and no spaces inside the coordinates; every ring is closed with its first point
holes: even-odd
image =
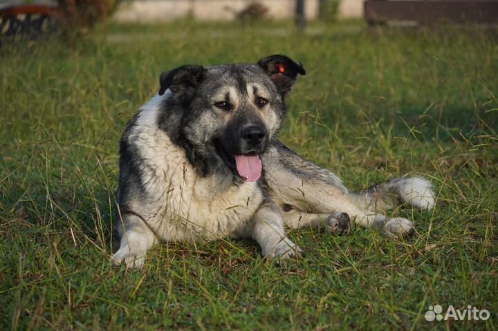
{"type": "Polygon", "coordinates": [[[400,202],[422,210],[434,207],[432,183],[420,177],[394,178],[353,193],[352,196],[360,207],[371,211],[394,209],[400,202]]]}

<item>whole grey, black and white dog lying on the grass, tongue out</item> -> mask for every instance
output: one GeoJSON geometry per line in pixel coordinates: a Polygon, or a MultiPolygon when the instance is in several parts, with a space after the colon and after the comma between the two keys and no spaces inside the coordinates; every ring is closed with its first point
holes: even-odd
{"type": "Polygon", "coordinates": [[[118,231],[111,261],[142,267],[154,243],[226,236],[257,240],[266,258],[303,251],[284,226],[347,233],[350,218],[385,236],[412,222],[380,211],[434,207],[432,185],[396,178],[352,193],[331,171],[277,140],[302,64],[283,55],[257,64],[181,66],[129,122],[120,144],[118,231]]]}

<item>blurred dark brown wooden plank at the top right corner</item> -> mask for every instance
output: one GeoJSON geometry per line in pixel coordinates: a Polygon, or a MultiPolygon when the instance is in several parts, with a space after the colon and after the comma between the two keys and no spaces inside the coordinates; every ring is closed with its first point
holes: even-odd
{"type": "Polygon", "coordinates": [[[369,23],[387,21],[498,23],[498,1],[366,0],[365,19],[369,23]]]}

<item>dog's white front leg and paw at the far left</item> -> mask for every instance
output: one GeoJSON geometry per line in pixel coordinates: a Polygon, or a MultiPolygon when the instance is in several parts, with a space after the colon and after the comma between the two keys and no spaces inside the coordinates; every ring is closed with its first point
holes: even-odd
{"type": "Polygon", "coordinates": [[[147,251],[156,241],[156,235],[139,216],[124,214],[122,218],[122,224],[118,225],[121,245],[111,257],[111,263],[120,265],[124,262],[128,268],[142,269],[147,251]]]}

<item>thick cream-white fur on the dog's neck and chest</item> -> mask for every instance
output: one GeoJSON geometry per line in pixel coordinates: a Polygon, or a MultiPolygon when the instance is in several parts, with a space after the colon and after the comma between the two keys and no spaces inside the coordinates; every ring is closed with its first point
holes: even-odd
{"type": "Polygon", "coordinates": [[[142,215],[149,227],[165,241],[214,240],[241,231],[262,200],[255,182],[237,187],[229,173],[199,176],[184,151],[158,129],[155,117],[156,107],[149,103],[129,133],[149,196],[142,215]]]}

